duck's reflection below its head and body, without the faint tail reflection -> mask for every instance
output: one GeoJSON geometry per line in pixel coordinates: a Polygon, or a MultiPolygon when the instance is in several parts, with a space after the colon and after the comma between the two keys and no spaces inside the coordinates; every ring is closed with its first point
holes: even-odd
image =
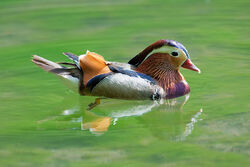
{"type": "MultiPolygon", "coordinates": [[[[99,99],[87,108],[85,103],[79,104],[81,116],[74,121],[81,122],[81,130],[90,131],[94,135],[102,135],[119,121],[133,118],[148,128],[153,136],[160,139],[182,141],[192,133],[194,124],[199,121],[199,111],[183,111],[189,95],[162,101],[127,101],[99,99]],[[129,118],[128,118],[129,117],[129,118]]],[[[76,109],[65,110],[64,115],[74,115],[76,109]],[[68,113],[68,114],[65,114],[68,113]]]]}

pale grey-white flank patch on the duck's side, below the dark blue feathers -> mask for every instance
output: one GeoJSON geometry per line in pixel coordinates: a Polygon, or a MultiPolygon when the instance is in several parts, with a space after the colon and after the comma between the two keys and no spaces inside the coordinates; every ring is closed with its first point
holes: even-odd
{"type": "Polygon", "coordinates": [[[150,99],[155,93],[160,96],[165,94],[160,86],[152,85],[143,78],[121,73],[107,76],[91,92],[94,96],[121,99],[150,99]]]}

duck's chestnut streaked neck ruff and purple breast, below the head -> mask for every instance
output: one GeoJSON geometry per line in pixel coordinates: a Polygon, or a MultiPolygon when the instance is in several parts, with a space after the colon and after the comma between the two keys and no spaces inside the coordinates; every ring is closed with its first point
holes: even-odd
{"type": "Polygon", "coordinates": [[[190,92],[189,85],[179,70],[168,63],[161,64],[156,59],[146,60],[136,68],[136,71],[154,78],[165,90],[166,98],[175,98],[190,92]]]}

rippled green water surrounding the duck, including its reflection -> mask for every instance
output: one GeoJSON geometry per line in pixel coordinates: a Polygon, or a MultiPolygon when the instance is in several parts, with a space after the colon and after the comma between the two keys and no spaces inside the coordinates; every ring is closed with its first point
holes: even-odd
{"type": "Polygon", "coordinates": [[[0,166],[250,164],[247,0],[1,0],[0,166]],[[189,50],[191,94],[101,100],[69,91],[31,63],[89,49],[127,62],[159,39],[189,50]]]}

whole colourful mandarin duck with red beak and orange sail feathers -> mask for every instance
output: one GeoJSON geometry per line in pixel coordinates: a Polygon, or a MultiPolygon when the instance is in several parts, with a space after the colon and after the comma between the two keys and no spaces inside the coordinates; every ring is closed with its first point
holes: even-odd
{"type": "Polygon", "coordinates": [[[117,99],[171,99],[190,92],[180,67],[200,73],[186,48],[174,40],[159,40],[128,63],[108,62],[87,51],[79,57],[63,53],[74,63],[55,63],[37,55],[33,62],[77,87],[80,95],[117,99]]]}

